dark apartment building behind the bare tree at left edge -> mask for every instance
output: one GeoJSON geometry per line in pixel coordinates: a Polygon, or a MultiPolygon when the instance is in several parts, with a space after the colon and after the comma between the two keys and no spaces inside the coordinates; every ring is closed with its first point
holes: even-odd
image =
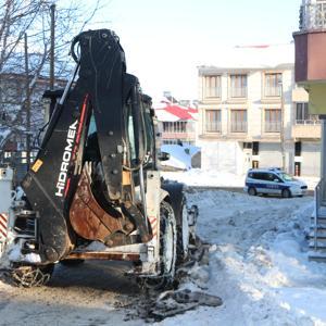
{"type": "MultiPolygon", "coordinates": [[[[10,164],[15,168],[16,181],[21,181],[27,171],[26,153],[26,108],[25,103],[25,74],[8,73],[1,74],[0,83],[0,164],[10,164]]],[[[30,76],[33,79],[33,76],[30,76]]],[[[66,84],[64,79],[57,79],[55,87],[63,88],[66,84]]],[[[49,89],[48,77],[39,76],[35,79],[30,89],[30,145],[37,146],[36,139],[39,129],[45,125],[45,100],[42,95],[49,89]]],[[[30,152],[35,158],[37,150],[30,152]]]]}

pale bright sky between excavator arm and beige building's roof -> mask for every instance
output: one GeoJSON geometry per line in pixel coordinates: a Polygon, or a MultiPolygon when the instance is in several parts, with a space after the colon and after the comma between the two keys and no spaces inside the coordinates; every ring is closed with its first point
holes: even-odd
{"type": "MultiPolygon", "coordinates": [[[[95,1],[95,0],[89,0],[95,1]]],[[[106,0],[102,0],[106,1],[106,0]]],[[[127,71],[154,99],[198,98],[199,65],[227,48],[283,45],[299,28],[301,0],[108,0],[93,28],[113,29],[127,71]]],[[[215,58],[215,60],[214,60],[215,58]]]]}

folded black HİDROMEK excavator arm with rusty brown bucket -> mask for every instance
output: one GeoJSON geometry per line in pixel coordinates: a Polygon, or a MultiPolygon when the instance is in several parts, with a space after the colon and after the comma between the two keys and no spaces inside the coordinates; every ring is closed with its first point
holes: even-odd
{"type": "Polygon", "coordinates": [[[76,70],[22,184],[36,212],[42,263],[63,259],[80,238],[106,246],[151,239],[135,196],[145,164],[156,168],[151,100],[126,73],[111,30],[79,34],[72,55],[76,70]]]}

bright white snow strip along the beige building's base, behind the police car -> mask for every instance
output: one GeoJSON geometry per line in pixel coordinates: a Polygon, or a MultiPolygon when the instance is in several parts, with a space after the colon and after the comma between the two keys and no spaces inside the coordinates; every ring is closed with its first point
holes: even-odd
{"type": "MultiPolygon", "coordinates": [[[[187,172],[163,172],[166,179],[177,180],[188,186],[199,187],[230,187],[242,188],[244,186],[244,175],[237,175],[225,171],[205,171],[192,168],[187,172]]],[[[308,184],[308,189],[313,190],[319,178],[298,177],[308,184]]]]}

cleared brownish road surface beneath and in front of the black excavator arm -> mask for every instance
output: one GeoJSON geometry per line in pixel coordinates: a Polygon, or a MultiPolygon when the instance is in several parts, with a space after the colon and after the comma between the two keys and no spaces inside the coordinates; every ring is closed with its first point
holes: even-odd
{"type": "Polygon", "coordinates": [[[140,298],[126,263],[86,262],[55,266],[50,283],[17,288],[0,281],[0,325],[143,325],[130,319],[130,302],[140,298]]]}

